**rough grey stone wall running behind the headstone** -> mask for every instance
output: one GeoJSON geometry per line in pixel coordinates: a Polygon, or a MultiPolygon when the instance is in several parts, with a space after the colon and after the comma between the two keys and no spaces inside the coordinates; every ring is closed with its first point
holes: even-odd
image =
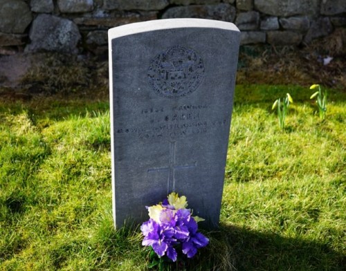
{"type": "Polygon", "coordinates": [[[193,17],[235,23],[242,44],[309,44],[346,27],[345,0],[0,0],[0,55],[107,53],[109,28],[193,17]]]}

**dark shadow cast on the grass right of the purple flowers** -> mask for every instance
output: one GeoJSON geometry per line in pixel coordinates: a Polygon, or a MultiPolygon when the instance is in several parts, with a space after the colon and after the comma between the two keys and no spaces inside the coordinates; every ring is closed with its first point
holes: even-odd
{"type": "MultiPolygon", "coordinates": [[[[286,238],[228,225],[207,235],[210,246],[199,255],[199,261],[208,259],[204,270],[345,270],[346,266],[346,256],[327,241],[286,238]]],[[[197,265],[202,262],[196,261],[197,265]]]]}

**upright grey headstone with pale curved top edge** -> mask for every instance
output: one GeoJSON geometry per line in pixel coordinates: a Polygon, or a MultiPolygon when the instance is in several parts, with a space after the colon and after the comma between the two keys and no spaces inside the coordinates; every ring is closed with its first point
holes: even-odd
{"type": "Polygon", "coordinates": [[[207,19],[109,30],[113,216],[147,221],[176,191],[219,223],[240,32],[207,19]]]}

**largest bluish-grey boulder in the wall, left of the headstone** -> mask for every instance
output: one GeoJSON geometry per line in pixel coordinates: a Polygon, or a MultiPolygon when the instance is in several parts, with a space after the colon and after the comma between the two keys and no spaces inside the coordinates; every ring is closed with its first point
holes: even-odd
{"type": "Polygon", "coordinates": [[[57,51],[62,53],[78,53],[80,40],[78,27],[69,19],[42,14],[33,21],[29,34],[31,44],[28,51],[57,51]]]}

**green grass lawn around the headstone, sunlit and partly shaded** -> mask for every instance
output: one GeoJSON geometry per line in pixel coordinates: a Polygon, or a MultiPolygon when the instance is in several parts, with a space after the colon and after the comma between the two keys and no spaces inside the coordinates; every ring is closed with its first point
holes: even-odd
{"type": "MultiPolygon", "coordinates": [[[[221,227],[188,270],[345,270],[346,95],[237,86],[221,227]],[[286,128],[271,105],[291,93],[286,128]]],[[[0,103],[0,270],[147,270],[113,230],[109,104],[0,103]]]]}

